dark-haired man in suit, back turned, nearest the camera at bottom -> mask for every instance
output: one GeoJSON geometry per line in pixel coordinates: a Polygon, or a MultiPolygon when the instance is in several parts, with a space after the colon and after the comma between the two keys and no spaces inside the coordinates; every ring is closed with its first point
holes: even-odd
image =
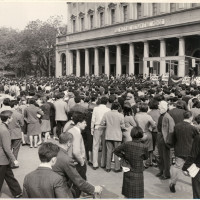
{"type": "Polygon", "coordinates": [[[72,198],[63,178],[52,170],[60,148],[53,143],[43,143],[38,154],[38,169],[24,178],[23,198],[72,198]]]}

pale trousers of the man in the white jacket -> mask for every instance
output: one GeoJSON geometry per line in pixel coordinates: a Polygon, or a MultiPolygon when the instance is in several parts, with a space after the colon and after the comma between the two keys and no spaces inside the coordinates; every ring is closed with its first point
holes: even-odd
{"type": "Polygon", "coordinates": [[[106,165],[105,129],[95,129],[93,134],[93,167],[98,167],[99,146],[102,142],[101,167],[106,165]]]}

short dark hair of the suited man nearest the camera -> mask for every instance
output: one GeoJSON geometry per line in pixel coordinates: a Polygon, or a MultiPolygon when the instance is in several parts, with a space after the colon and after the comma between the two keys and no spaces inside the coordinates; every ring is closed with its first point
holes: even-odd
{"type": "Polygon", "coordinates": [[[49,162],[53,157],[58,155],[59,151],[60,148],[58,145],[51,142],[43,143],[38,150],[40,161],[42,163],[49,162]]]}

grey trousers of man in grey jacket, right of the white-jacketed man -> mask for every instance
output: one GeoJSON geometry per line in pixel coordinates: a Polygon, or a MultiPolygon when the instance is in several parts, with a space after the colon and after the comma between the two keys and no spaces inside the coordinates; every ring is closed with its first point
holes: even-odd
{"type": "MultiPolygon", "coordinates": [[[[106,169],[111,169],[111,161],[114,148],[117,148],[121,144],[120,141],[106,140],[107,147],[107,158],[106,158],[106,169]]],[[[119,157],[114,155],[115,170],[120,170],[119,157]]]]}

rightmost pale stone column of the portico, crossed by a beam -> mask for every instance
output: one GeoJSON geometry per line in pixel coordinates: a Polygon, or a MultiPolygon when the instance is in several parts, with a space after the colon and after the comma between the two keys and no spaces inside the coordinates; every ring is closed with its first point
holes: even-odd
{"type": "MultiPolygon", "coordinates": [[[[185,56],[185,38],[179,38],[179,56],[185,56]]],[[[178,62],[178,76],[184,77],[185,76],[185,57],[178,62]]]]}

